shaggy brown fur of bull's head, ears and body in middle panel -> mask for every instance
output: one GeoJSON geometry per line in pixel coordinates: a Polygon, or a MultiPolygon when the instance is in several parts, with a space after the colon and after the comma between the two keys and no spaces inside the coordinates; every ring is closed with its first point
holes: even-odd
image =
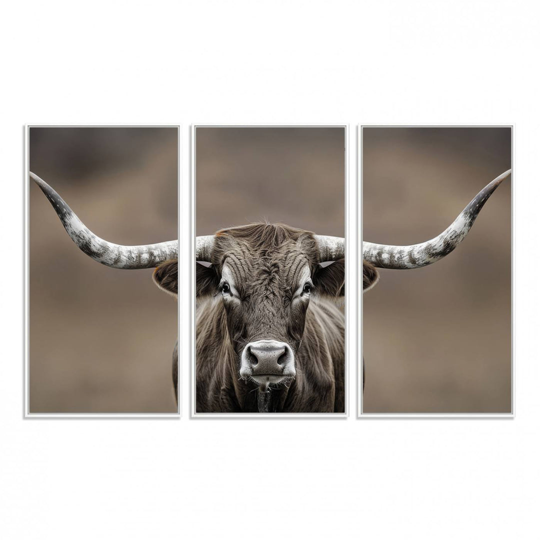
{"type": "Polygon", "coordinates": [[[322,268],[313,233],[255,224],[218,232],[208,262],[197,265],[197,412],[258,412],[258,386],[240,379],[239,367],[245,345],[259,339],[284,341],[295,356],[296,377],[271,387],[268,411],[344,412],[345,318],[337,301],[345,261],[322,268]],[[218,291],[225,262],[238,302],[218,291]],[[313,292],[293,302],[306,265],[313,292]]]}

